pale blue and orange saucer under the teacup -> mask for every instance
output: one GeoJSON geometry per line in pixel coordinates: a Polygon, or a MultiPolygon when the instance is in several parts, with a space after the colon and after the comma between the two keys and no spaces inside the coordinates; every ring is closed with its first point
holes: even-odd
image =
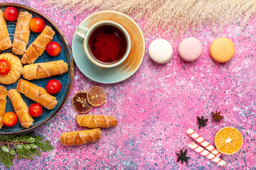
{"type": "Polygon", "coordinates": [[[90,28],[100,21],[114,21],[127,30],[131,40],[131,50],[122,64],[112,68],[102,68],[93,64],[85,55],[83,39],[74,35],[72,52],[75,64],[86,77],[103,84],[113,84],[123,81],[134,74],[142,64],[145,52],[145,43],[142,30],[132,18],[117,11],[100,11],[85,18],[79,26],[90,28]]]}

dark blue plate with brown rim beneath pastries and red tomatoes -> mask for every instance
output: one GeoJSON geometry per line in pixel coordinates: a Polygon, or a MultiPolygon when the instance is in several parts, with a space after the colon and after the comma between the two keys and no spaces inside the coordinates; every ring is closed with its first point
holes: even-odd
{"type": "MultiPolygon", "coordinates": [[[[21,127],[21,123],[19,123],[19,122],[16,125],[14,125],[13,127],[7,127],[7,126],[3,125],[3,127],[0,130],[0,135],[15,135],[15,134],[21,134],[24,132],[30,132],[31,130],[35,130],[36,128],[39,128],[44,123],[48,122],[48,120],[50,120],[50,118],[53,118],[53,116],[56,113],[58,113],[58,111],[60,111],[60,108],[63,106],[63,103],[65,103],[65,100],[68,98],[68,94],[70,92],[71,84],[73,81],[73,57],[70,52],[70,47],[68,46],[68,41],[65,39],[60,28],[58,28],[58,26],[56,26],[55,23],[53,23],[53,21],[51,21],[47,16],[43,15],[43,13],[40,13],[39,11],[36,11],[35,9],[30,8],[28,6],[23,6],[23,5],[19,5],[19,4],[0,4],[0,8],[3,12],[4,12],[4,9],[8,6],[16,7],[19,12],[28,11],[29,13],[31,13],[33,15],[33,17],[42,18],[43,21],[45,21],[46,25],[53,28],[53,30],[55,31],[55,36],[53,38],[53,41],[58,42],[60,44],[60,47],[61,47],[60,55],[55,56],[55,57],[50,57],[50,55],[48,55],[47,52],[45,51],[45,52],[43,52],[43,55],[41,55],[41,57],[39,57],[38,60],[36,60],[35,63],[50,62],[50,61],[55,61],[55,60],[64,60],[64,62],[68,63],[68,72],[66,72],[65,74],[60,75],[60,76],[49,77],[46,79],[31,80],[30,81],[31,83],[36,84],[37,86],[41,86],[44,89],[46,89],[46,84],[50,79],[58,79],[58,81],[60,81],[60,84],[62,86],[60,92],[58,94],[54,95],[57,98],[56,100],[58,101],[58,105],[53,110],[48,110],[46,108],[43,108],[42,115],[40,115],[37,118],[33,118],[34,122],[30,128],[21,127]]],[[[13,34],[14,34],[14,31],[16,28],[16,21],[14,21],[14,22],[6,21],[6,24],[7,24],[9,35],[11,38],[11,42],[13,42],[13,40],[14,40],[13,34]]],[[[33,33],[31,31],[28,45],[30,45],[33,42],[33,40],[35,40],[38,37],[39,34],[40,33],[33,33]]],[[[7,52],[13,53],[13,52],[11,52],[11,48],[10,48],[9,50],[2,51],[1,54],[7,53],[7,52]]],[[[22,56],[18,56],[18,57],[21,59],[22,56]]],[[[22,76],[21,76],[21,79],[23,79],[22,76]]],[[[4,84],[1,84],[1,85],[4,85],[7,90],[16,89],[17,82],[18,81],[16,81],[14,84],[9,84],[9,85],[4,85],[4,84]]],[[[32,103],[35,103],[34,101],[32,101],[30,98],[24,96],[23,94],[21,94],[21,96],[22,96],[23,100],[26,102],[28,107],[32,103]]],[[[6,100],[7,100],[6,112],[9,112],[9,111],[14,112],[14,108],[11,104],[10,99],[7,97],[6,100]]]]}

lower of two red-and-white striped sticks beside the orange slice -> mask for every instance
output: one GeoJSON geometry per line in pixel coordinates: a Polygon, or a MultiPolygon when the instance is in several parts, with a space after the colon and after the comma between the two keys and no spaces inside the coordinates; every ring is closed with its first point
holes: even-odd
{"type": "Polygon", "coordinates": [[[199,147],[198,145],[196,145],[195,143],[191,142],[188,147],[190,147],[191,149],[194,149],[196,152],[203,154],[203,156],[207,157],[208,159],[212,160],[213,162],[217,163],[220,166],[225,166],[227,163],[225,161],[223,161],[223,159],[220,159],[219,157],[217,157],[216,155],[208,152],[208,150],[203,149],[203,147],[199,147]]]}

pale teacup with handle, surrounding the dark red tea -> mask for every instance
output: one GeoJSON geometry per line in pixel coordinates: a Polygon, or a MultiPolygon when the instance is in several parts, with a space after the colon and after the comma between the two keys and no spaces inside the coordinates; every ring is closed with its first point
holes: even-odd
{"type": "Polygon", "coordinates": [[[89,29],[78,26],[78,29],[76,30],[75,34],[79,35],[81,38],[84,38],[83,45],[85,49],[85,54],[93,64],[96,64],[99,67],[110,68],[110,67],[118,66],[119,64],[124,62],[124,60],[127,59],[129,52],[131,50],[131,40],[129,38],[129,34],[127,33],[127,30],[125,30],[121,25],[119,25],[119,23],[115,23],[113,21],[100,21],[98,23],[95,23],[89,29]],[[107,62],[102,62],[100,60],[97,60],[97,58],[92,54],[92,51],[90,50],[90,45],[89,45],[90,36],[97,28],[100,28],[102,26],[113,26],[124,34],[127,47],[124,54],[122,55],[122,58],[117,60],[117,62],[107,63],[107,62]]]}

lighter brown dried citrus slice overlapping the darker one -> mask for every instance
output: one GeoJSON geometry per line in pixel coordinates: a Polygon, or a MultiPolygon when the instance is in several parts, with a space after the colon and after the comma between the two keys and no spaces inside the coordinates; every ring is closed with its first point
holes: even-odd
{"type": "Polygon", "coordinates": [[[87,92],[88,102],[92,106],[101,106],[103,103],[105,103],[106,98],[107,98],[107,94],[105,90],[102,89],[100,86],[93,86],[87,92]]]}

